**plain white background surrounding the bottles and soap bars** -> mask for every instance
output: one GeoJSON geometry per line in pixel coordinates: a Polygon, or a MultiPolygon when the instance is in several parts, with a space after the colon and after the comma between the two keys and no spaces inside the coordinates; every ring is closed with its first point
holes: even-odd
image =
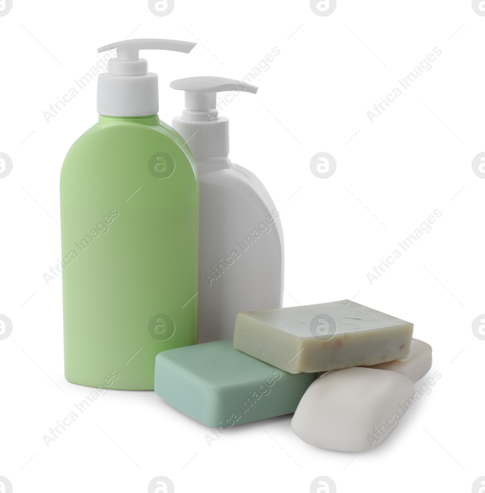
{"type": "Polygon", "coordinates": [[[146,1],[14,0],[0,17],[0,152],[13,162],[0,179],[0,313],[13,323],[0,341],[0,476],[14,491],[146,492],[159,475],[176,492],[308,492],[317,476],[338,492],[470,491],[485,475],[485,341],[471,330],[485,312],[485,179],[471,167],[485,151],[484,29],[468,0],[338,0],[326,17],[308,1],[176,0],[158,17],[146,1]],[[378,448],[317,449],[291,416],[236,426],[209,447],[208,427],[154,392],[116,390],[45,445],[91,391],[64,379],[61,279],[42,275],[60,255],[60,170],[97,120],[96,80],[49,123],[42,113],[99,46],[127,36],[199,41],[189,55],[143,53],[167,122],[183,107],[171,80],[240,78],[281,51],[257,95],[224,114],[232,161],[281,212],[284,306],[353,298],[412,321],[443,375],[378,448]],[[432,69],[371,123],[366,112],[435,47],[432,69]],[[336,158],[327,179],[310,171],[318,152],[336,158]],[[371,285],[367,273],[436,209],[432,231],[371,285]]]}

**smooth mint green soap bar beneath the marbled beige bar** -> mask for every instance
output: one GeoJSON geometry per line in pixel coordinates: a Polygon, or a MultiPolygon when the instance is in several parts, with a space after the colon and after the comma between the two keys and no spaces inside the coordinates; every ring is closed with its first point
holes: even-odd
{"type": "Polygon", "coordinates": [[[238,351],[232,339],[170,349],[155,359],[155,392],[213,427],[294,413],[316,373],[292,374],[238,351]]]}

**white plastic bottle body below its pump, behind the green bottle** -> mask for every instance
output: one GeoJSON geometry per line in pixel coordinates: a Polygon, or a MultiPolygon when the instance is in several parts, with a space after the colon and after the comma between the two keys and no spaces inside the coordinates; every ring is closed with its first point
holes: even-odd
{"type": "Polygon", "coordinates": [[[227,158],[196,164],[200,344],[233,337],[239,312],[282,306],[284,251],[279,212],[255,175],[227,158]]]}

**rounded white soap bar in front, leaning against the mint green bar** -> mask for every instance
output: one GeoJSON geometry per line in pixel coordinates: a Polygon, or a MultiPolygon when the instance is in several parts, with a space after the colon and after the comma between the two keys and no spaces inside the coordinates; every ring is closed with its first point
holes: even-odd
{"type": "Polygon", "coordinates": [[[310,445],[364,452],[389,436],[414,393],[411,381],[398,372],[362,367],[330,371],[308,387],[291,427],[310,445]]]}

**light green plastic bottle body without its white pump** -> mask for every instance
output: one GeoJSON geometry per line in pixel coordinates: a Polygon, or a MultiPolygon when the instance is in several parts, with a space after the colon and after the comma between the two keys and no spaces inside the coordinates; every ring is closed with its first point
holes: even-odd
{"type": "Polygon", "coordinates": [[[61,226],[66,379],[153,390],[155,356],[197,343],[190,150],[156,115],[100,116],[64,161],[61,226]]]}

